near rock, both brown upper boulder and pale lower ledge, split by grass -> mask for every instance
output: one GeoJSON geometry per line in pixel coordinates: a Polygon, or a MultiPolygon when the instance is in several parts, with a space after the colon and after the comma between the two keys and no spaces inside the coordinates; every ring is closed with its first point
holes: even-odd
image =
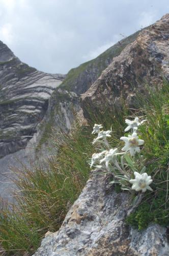
{"type": "MultiPolygon", "coordinates": [[[[141,31],[81,96],[85,116],[89,104],[94,110],[105,102],[119,104],[122,97],[132,104],[136,91],[144,93],[145,81],[160,84],[161,73],[168,79],[168,39],[169,14],[141,31]]],[[[48,232],[34,255],[169,255],[166,228],[137,231],[125,224],[130,205],[128,194],[116,194],[101,175],[91,176],[60,230],[48,232]]]]}

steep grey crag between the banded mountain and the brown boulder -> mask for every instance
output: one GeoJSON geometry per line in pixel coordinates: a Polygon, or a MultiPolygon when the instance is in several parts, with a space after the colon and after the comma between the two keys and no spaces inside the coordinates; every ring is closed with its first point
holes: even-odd
{"type": "Polygon", "coordinates": [[[37,126],[38,133],[33,142],[36,145],[38,157],[47,153],[48,148],[53,147],[51,143],[51,133],[68,133],[72,127],[77,114],[81,111],[79,97],[74,92],[68,92],[58,88],[49,99],[46,115],[37,126]]]}

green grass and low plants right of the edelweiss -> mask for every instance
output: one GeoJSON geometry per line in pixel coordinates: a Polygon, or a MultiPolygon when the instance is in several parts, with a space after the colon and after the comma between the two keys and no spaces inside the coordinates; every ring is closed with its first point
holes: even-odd
{"type": "MultiPolygon", "coordinates": [[[[167,226],[169,223],[169,88],[164,82],[161,90],[155,88],[147,99],[140,99],[144,105],[140,112],[147,122],[140,127],[145,140],[142,155],[146,158],[147,173],[153,177],[153,193],[146,193],[127,223],[144,229],[149,223],[167,226]]],[[[138,105],[139,106],[139,105],[138,105]]]]}

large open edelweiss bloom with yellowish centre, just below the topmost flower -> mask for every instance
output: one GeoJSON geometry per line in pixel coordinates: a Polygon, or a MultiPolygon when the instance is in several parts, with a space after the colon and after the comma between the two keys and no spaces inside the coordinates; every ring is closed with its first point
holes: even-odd
{"type": "Polygon", "coordinates": [[[122,151],[129,151],[131,156],[134,156],[135,152],[139,153],[139,146],[144,144],[144,140],[138,139],[136,132],[133,132],[132,135],[128,135],[128,137],[121,137],[120,139],[125,142],[122,151]]]}

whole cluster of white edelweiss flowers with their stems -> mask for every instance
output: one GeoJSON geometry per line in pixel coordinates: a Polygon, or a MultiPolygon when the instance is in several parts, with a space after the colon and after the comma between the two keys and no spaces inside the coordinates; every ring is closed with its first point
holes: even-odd
{"type": "Polygon", "coordinates": [[[152,191],[150,184],[153,182],[151,176],[145,173],[146,167],[136,172],[134,166],[134,156],[140,152],[140,146],[144,144],[144,140],[139,139],[137,134],[138,127],[142,125],[146,120],[140,121],[136,117],[133,121],[126,119],[125,122],[128,125],[125,132],[132,131],[127,137],[123,136],[120,140],[125,142],[123,148],[111,148],[107,139],[111,137],[111,130],[103,131],[101,124],[95,124],[92,134],[97,134],[97,137],[93,140],[93,144],[100,143],[100,153],[94,153],[92,155],[90,167],[102,169],[106,173],[111,173],[114,176],[114,180],[110,183],[121,184],[122,189],[135,191],[146,190],[152,191]],[[135,177],[135,179],[132,179],[135,177]],[[130,185],[132,184],[132,186],[130,185]],[[131,186],[131,187],[130,187],[131,186]]]}

